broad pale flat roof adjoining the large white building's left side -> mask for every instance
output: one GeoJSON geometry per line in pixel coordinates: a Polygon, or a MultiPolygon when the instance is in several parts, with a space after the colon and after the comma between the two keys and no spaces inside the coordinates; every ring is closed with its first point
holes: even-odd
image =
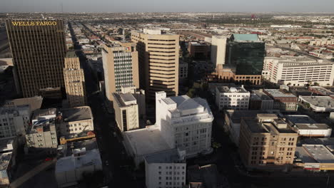
{"type": "Polygon", "coordinates": [[[155,125],[145,129],[126,131],[124,135],[128,137],[133,153],[137,156],[171,150],[155,125]]]}

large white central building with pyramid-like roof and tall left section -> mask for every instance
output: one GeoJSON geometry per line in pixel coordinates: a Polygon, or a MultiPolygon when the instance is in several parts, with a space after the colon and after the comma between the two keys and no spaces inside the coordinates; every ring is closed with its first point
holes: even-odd
{"type": "Polygon", "coordinates": [[[187,156],[211,152],[212,122],[206,100],[156,93],[156,125],[171,148],[184,148],[187,156]]]}

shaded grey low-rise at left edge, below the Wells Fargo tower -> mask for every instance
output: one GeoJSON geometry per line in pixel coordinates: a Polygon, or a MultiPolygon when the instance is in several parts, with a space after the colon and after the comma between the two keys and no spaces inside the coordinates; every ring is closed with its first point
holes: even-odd
{"type": "Polygon", "coordinates": [[[0,108],[0,137],[25,135],[29,127],[30,115],[29,105],[0,108]]]}

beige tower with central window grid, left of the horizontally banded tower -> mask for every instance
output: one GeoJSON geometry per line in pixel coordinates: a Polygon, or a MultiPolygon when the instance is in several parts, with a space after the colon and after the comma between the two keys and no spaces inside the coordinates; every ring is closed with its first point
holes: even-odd
{"type": "Polygon", "coordinates": [[[134,85],[139,88],[138,52],[133,46],[103,46],[102,61],[106,97],[113,101],[113,93],[121,91],[121,86],[134,85]]]}

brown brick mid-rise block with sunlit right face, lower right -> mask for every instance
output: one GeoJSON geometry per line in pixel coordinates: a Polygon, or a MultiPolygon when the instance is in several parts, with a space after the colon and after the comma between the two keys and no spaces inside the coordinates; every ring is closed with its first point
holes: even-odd
{"type": "Polygon", "coordinates": [[[239,152],[248,169],[284,169],[293,164],[298,133],[275,114],[241,120],[239,152]]]}

